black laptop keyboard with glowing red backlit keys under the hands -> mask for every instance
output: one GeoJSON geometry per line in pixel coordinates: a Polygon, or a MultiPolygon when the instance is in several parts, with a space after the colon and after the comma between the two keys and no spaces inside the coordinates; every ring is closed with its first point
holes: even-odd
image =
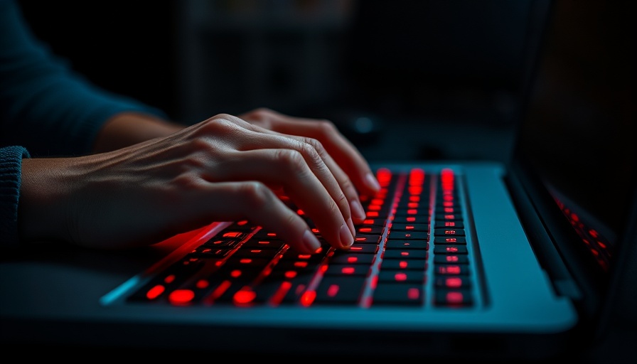
{"type": "Polygon", "coordinates": [[[362,201],[367,219],[356,227],[349,250],[330,247],[314,228],[323,246],[314,255],[301,255],[248,221],[229,223],[156,272],[127,301],[473,306],[472,259],[457,176],[451,169],[399,173],[381,168],[377,177],[382,188],[362,201]]]}

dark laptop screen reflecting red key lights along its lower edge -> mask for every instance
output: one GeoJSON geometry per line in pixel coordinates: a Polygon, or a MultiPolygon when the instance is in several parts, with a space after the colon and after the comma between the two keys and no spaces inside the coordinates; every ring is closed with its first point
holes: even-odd
{"type": "Polygon", "coordinates": [[[518,143],[606,270],[637,182],[633,4],[552,4],[518,143]]]}

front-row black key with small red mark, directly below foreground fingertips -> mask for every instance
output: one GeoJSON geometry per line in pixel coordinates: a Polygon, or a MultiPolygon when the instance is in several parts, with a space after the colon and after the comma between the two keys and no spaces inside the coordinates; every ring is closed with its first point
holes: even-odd
{"type": "Polygon", "coordinates": [[[365,277],[323,277],[316,287],[316,304],[358,304],[365,277]]]}

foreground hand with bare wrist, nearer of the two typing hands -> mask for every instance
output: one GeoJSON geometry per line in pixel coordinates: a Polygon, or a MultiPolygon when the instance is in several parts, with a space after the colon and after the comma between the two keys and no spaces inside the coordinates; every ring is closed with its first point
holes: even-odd
{"type": "MultiPolygon", "coordinates": [[[[364,175],[366,166],[350,170],[364,175]]],[[[358,196],[346,196],[351,183],[321,143],[230,115],[107,153],[24,159],[22,171],[26,241],[135,247],[247,218],[299,252],[316,251],[305,221],[274,193],[280,189],[331,245],[353,242],[348,198],[358,196]]]]}

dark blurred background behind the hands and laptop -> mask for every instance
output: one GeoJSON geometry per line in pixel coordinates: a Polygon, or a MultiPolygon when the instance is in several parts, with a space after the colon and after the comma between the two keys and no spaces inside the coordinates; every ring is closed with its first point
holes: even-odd
{"type": "Polygon", "coordinates": [[[256,107],[331,119],[370,160],[506,158],[532,0],[27,1],[107,90],[193,124],[256,107]]]}

